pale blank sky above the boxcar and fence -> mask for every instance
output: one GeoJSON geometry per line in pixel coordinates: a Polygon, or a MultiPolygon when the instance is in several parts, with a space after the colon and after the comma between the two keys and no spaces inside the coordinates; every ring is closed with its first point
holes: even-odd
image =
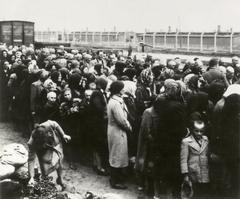
{"type": "Polygon", "coordinates": [[[240,0],[0,0],[0,20],[38,31],[240,32],[240,0]]]}

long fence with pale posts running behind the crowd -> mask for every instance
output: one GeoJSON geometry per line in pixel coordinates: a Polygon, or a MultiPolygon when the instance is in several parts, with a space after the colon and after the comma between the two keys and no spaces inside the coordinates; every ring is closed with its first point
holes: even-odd
{"type": "Polygon", "coordinates": [[[72,46],[139,48],[140,43],[152,49],[198,52],[237,52],[240,50],[240,32],[56,32],[35,31],[35,41],[71,43],[72,46]]]}

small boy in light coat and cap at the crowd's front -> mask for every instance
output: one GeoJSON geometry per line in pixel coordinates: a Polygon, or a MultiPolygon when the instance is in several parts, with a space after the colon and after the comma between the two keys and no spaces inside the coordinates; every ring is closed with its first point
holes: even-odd
{"type": "Polygon", "coordinates": [[[181,172],[185,183],[193,185],[195,197],[207,197],[209,183],[208,147],[209,141],[203,135],[205,124],[201,120],[191,122],[189,137],[184,138],[181,144],[181,172]]]}

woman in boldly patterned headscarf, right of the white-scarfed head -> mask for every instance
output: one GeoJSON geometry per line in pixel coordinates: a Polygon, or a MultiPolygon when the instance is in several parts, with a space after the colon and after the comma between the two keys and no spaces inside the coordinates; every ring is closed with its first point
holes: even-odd
{"type": "Polygon", "coordinates": [[[136,109],[142,115],[146,108],[149,108],[149,98],[151,96],[151,85],[153,83],[153,73],[149,69],[141,72],[136,90],[136,109]]]}

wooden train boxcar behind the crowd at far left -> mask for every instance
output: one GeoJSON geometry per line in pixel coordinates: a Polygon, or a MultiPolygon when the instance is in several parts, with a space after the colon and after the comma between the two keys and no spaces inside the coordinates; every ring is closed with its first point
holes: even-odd
{"type": "Polygon", "coordinates": [[[33,44],[34,22],[0,21],[0,42],[8,46],[33,44]]]}

